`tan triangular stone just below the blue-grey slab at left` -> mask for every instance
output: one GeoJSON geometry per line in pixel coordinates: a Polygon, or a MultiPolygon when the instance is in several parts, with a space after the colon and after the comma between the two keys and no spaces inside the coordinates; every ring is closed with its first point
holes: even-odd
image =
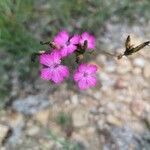
{"type": "Polygon", "coordinates": [[[49,120],[49,113],[50,113],[49,109],[37,112],[34,116],[34,119],[39,123],[41,123],[42,125],[46,125],[49,120]]]}

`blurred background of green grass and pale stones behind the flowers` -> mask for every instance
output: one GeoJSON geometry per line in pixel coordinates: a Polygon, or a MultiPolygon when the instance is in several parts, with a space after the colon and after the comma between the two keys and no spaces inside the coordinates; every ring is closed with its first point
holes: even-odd
{"type": "Polygon", "coordinates": [[[149,0],[0,0],[0,146],[2,150],[149,150],[149,0]],[[39,77],[33,52],[60,30],[96,36],[99,84],[79,91],[39,77]]]}

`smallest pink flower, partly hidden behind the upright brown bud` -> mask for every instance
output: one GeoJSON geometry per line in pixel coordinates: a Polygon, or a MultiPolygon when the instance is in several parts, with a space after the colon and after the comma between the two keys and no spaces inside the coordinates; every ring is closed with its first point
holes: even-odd
{"type": "Polygon", "coordinates": [[[88,32],[84,32],[81,35],[79,43],[83,46],[84,42],[87,41],[87,49],[94,50],[95,49],[95,37],[88,32]]]}

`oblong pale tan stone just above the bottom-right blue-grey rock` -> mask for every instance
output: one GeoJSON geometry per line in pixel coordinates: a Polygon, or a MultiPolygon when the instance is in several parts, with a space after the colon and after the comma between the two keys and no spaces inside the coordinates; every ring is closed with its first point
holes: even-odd
{"type": "Polygon", "coordinates": [[[118,127],[121,127],[123,125],[123,122],[120,119],[118,119],[112,115],[108,115],[106,120],[109,124],[112,124],[112,125],[115,125],[118,127]]]}

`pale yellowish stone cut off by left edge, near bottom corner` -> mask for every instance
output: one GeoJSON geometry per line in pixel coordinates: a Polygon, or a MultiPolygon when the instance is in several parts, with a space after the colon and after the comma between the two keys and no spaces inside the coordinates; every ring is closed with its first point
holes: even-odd
{"type": "Polygon", "coordinates": [[[9,127],[0,124],[0,145],[2,144],[3,140],[7,137],[9,132],[9,127]]]}

